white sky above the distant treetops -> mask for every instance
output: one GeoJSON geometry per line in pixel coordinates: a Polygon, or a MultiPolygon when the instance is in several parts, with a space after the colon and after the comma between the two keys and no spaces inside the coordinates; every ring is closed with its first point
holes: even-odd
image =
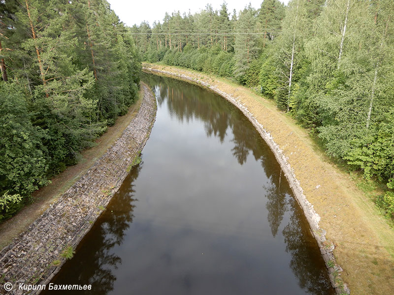
{"type": "MultiPolygon", "coordinates": [[[[289,0],[280,0],[287,4],[289,0]]],[[[219,10],[223,0],[108,0],[111,8],[119,16],[120,20],[128,26],[139,25],[142,21],[148,21],[152,26],[154,21],[163,23],[165,12],[171,14],[173,11],[192,14],[198,12],[210,3],[214,10],[219,10]]],[[[227,8],[232,15],[232,10],[242,10],[249,2],[254,8],[259,8],[263,0],[226,0],[227,8]]]]}

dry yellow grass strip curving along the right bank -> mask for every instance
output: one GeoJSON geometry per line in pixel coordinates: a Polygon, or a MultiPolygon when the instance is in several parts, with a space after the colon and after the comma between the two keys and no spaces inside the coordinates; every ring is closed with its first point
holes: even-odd
{"type": "Polygon", "coordinates": [[[159,64],[145,66],[187,75],[238,97],[289,157],[305,196],[321,216],[320,227],[335,245],[351,294],[394,294],[394,231],[355,181],[317,150],[305,129],[272,101],[226,79],[159,64]]]}

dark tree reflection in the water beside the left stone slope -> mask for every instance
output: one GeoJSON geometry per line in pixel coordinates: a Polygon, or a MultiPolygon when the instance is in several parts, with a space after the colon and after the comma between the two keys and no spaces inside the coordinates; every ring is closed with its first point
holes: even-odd
{"type": "MultiPolygon", "coordinates": [[[[125,179],[118,193],[115,194],[106,210],[99,217],[82,240],[75,256],[66,263],[60,273],[52,280],[54,284],[92,285],[92,290],[78,291],[80,294],[107,294],[113,290],[116,276],[112,269],[118,268],[121,258],[113,253],[113,247],[120,245],[126,230],[132,223],[136,199],[132,182],[138,177],[142,163],[134,167],[125,179]]],[[[50,293],[50,291],[46,291],[50,293]]],[[[46,292],[41,294],[47,294],[46,292]]],[[[62,291],[62,294],[74,294],[62,291]]]]}

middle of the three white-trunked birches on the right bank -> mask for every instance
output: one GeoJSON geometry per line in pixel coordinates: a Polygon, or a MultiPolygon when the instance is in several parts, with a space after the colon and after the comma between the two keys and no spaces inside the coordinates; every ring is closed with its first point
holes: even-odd
{"type": "Polygon", "coordinates": [[[366,39],[368,19],[366,1],[327,0],[311,28],[314,36],[305,44],[310,74],[305,80],[307,85],[303,102],[307,109],[304,119],[310,124],[319,126],[334,123],[341,106],[347,105],[340,98],[346,96],[338,96],[345,81],[345,71],[350,70],[347,66],[350,63],[344,69],[343,60],[358,51],[366,39]]]}

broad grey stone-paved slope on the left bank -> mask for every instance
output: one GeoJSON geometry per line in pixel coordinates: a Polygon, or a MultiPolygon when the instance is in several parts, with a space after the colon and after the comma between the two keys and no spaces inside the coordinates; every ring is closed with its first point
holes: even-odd
{"type": "Polygon", "coordinates": [[[156,118],[156,98],[145,84],[141,87],[141,107],[121,137],[26,232],[0,252],[1,285],[13,285],[11,291],[2,289],[0,294],[26,293],[18,290],[19,284],[49,283],[65,262],[65,250],[75,249],[118,191],[156,118]]]}

